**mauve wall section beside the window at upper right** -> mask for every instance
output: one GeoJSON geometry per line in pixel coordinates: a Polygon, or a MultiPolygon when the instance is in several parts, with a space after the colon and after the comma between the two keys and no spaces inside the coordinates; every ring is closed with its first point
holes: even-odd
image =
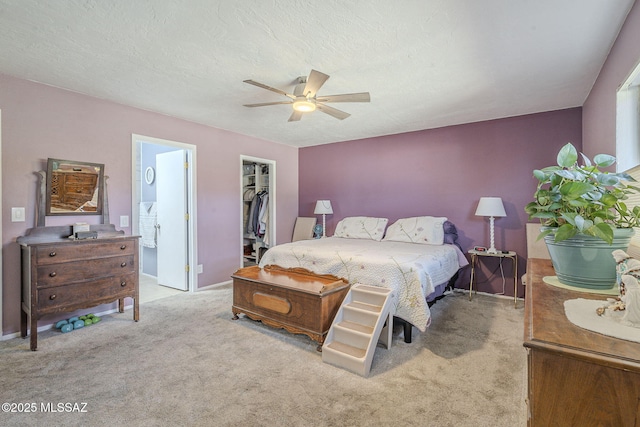
{"type": "Polygon", "coordinates": [[[616,91],[640,62],[640,2],[631,8],[583,106],[587,153],[616,152],[616,91]]]}

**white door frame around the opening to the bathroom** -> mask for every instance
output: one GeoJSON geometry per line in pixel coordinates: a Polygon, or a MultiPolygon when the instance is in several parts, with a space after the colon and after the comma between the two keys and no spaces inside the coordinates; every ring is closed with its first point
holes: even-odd
{"type": "MultiPolygon", "coordinates": [[[[137,207],[139,206],[141,199],[140,188],[142,182],[142,168],[140,151],[141,143],[143,142],[182,149],[187,153],[187,161],[189,162],[189,168],[187,169],[187,212],[189,213],[189,221],[187,222],[187,239],[189,240],[187,249],[187,263],[189,265],[189,272],[187,274],[187,291],[194,292],[198,287],[198,242],[196,240],[196,236],[198,234],[196,146],[183,142],[154,138],[152,136],[131,134],[131,232],[134,235],[138,234],[138,224],[140,221],[140,210],[137,209],[137,207]]],[[[142,247],[140,250],[142,250],[142,247]]],[[[138,273],[142,273],[141,265],[138,266],[138,269],[138,273]]]]}

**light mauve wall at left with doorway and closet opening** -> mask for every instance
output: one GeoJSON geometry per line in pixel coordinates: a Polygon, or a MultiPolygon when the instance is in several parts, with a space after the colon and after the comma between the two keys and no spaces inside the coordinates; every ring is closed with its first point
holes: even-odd
{"type": "MultiPolygon", "coordinates": [[[[105,164],[112,222],[131,213],[131,135],[196,145],[198,287],[227,281],[240,266],[240,155],[277,162],[277,241],[290,241],[298,213],[298,149],[0,75],[2,110],[3,329],[19,330],[20,255],[33,227],[37,179],[48,157],[105,164]],[[11,207],[26,222],[11,222],[11,207]]],[[[96,217],[48,217],[47,225],[96,217]]],[[[130,233],[130,229],[125,232],[130,233]]],[[[46,319],[45,319],[46,321],[46,319]]]]}

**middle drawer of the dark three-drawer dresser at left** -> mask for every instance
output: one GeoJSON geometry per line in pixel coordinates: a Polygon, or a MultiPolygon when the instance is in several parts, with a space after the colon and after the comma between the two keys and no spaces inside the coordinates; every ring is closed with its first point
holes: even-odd
{"type": "Polygon", "coordinates": [[[46,264],[38,267],[36,286],[38,288],[57,286],[135,271],[133,255],[46,264]]]}

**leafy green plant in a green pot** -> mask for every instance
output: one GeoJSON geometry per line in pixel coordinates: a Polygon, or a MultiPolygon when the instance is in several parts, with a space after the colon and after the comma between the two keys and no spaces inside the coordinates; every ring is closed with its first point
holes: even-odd
{"type": "Polygon", "coordinates": [[[557,166],[534,170],[538,179],[534,201],[525,207],[529,219],[539,219],[558,280],[566,285],[611,289],[615,261],[611,253],[627,250],[633,227],[640,225],[640,207],[628,208],[629,194],[640,191],[626,173],[602,170],[615,157],[598,154],[593,162],[567,143],[557,166]]]}

